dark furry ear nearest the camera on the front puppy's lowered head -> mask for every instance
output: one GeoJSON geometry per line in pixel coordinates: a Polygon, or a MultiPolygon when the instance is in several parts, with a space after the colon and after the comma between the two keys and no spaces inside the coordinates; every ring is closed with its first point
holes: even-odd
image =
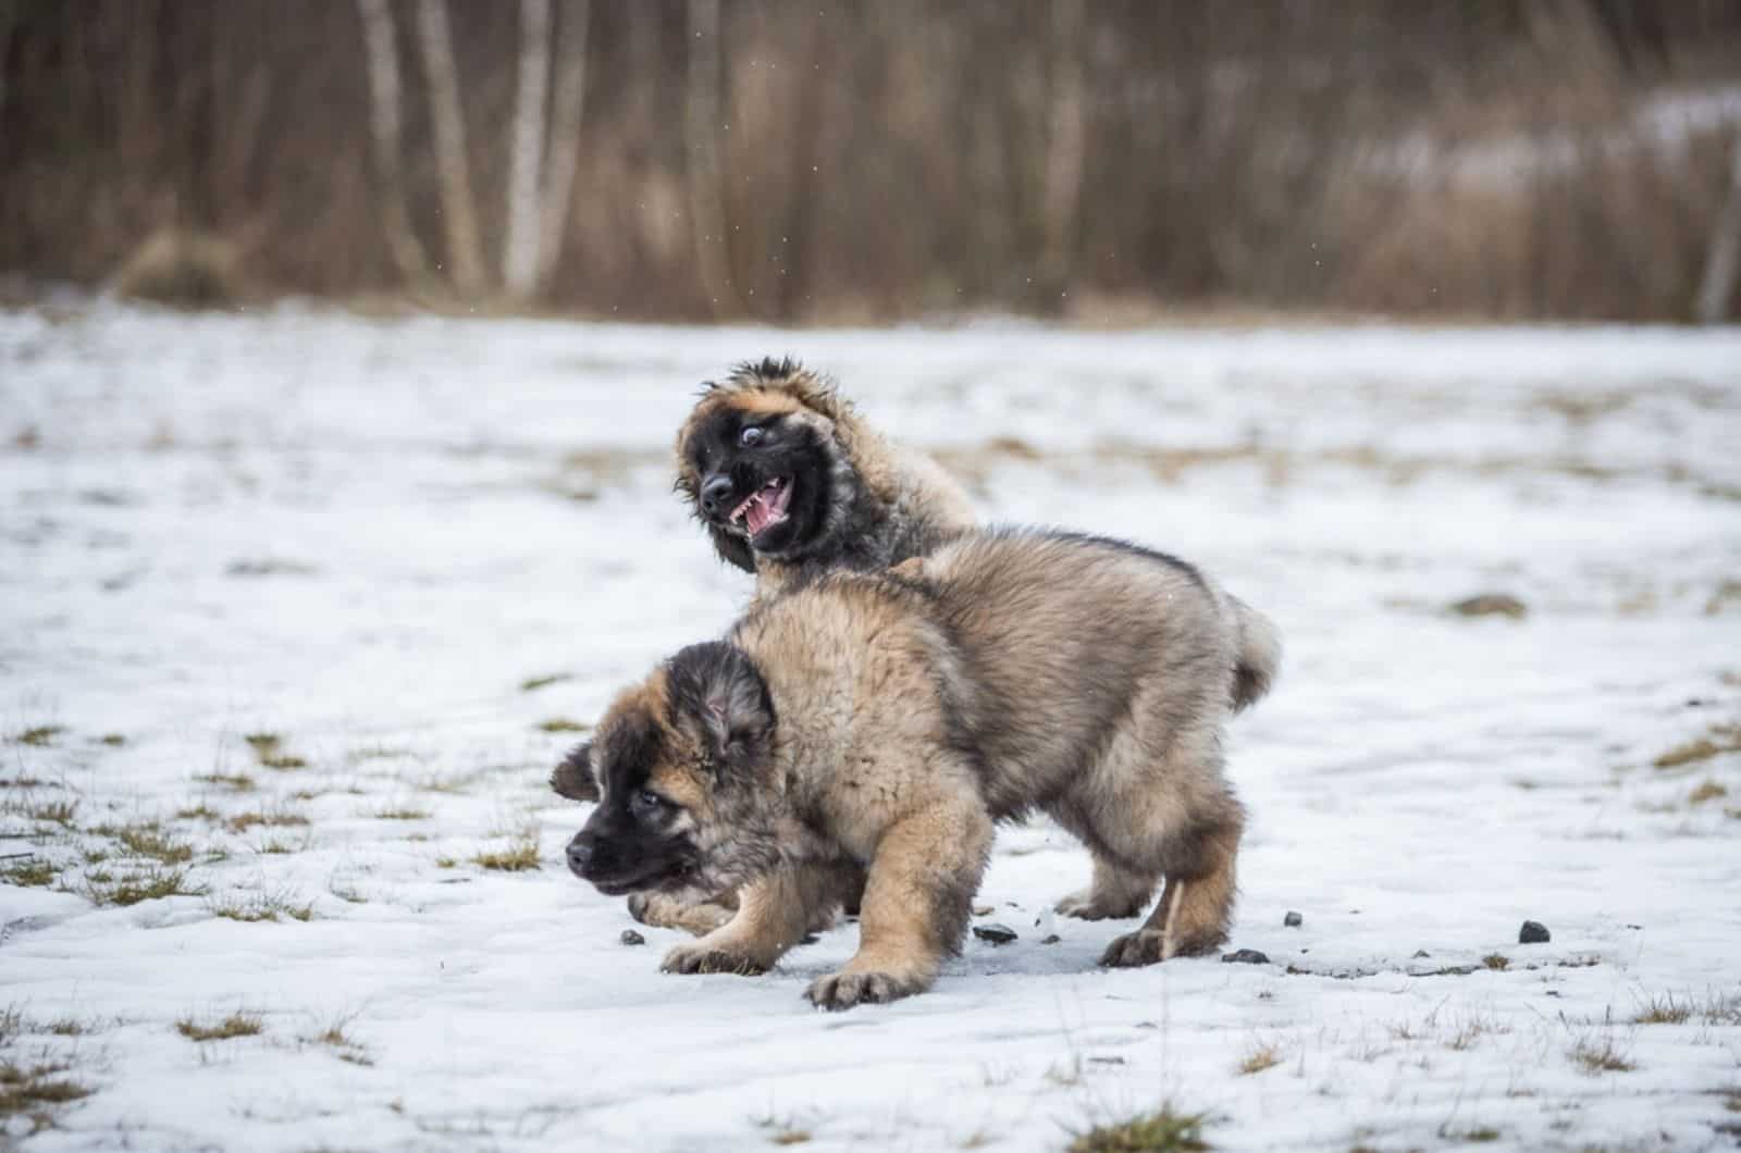
{"type": "Polygon", "coordinates": [[[743,772],[773,747],[773,700],[749,655],[723,641],[691,644],[670,658],[674,721],[721,770],[743,772]]]}

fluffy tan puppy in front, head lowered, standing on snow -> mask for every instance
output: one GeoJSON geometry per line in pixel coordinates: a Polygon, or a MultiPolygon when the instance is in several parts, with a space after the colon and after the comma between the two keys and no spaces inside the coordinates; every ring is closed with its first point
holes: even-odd
{"type": "Polygon", "coordinates": [[[1104,965],[1215,949],[1240,803],[1220,730],[1274,678],[1269,622],[1173,557],[968,533],[888,573],[834,573],[679,651],[606,712],[597,810],[569,867],[606,893],[738,890],[670,972],[763,972],[864,880],[825,1008],[919,993],[959,947],[994,822],[1050,813],[1093,855],[1060,906],[1130,916],[1104,965]]]}

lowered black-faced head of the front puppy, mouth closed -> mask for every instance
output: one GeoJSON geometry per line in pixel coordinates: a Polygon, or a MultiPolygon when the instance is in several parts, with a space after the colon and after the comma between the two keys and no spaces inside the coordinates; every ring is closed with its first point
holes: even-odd
{"type": "Polygon", "coordinates": [[[773,867],[773,702],[754,662],[691,644],[599,723],[599,806],[568,845],[599,892],[735,888],[773,867]]]}

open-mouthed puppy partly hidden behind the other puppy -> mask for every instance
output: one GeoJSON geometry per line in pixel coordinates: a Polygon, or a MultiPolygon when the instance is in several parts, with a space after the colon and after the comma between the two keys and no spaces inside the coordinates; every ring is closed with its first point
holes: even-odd
{"type": "MultiPolygon", "coordinates": [[[[832,570],[888,568],[973,526],[973,505],[947,472],[881,437],[827,380],[789,359],[742,364],[705,385],[676,455],[677,491],[714,550],[756,575],[757,599],[832,570]]],[[[569,752],[550,787],[599,799],[590,745],[569,752]]],[[[731,892],[629,902],[639,921],[693,934],[735,907],[731,892]]]]}

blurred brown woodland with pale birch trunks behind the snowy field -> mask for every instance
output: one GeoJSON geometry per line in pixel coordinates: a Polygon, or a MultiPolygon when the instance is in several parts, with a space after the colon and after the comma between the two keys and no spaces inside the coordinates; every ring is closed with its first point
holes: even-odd
{"type": "Polygon", "coordinates": [[[0,0],[0,273],[618,319],[1738,308],[1734,0],[0,0]]]}

